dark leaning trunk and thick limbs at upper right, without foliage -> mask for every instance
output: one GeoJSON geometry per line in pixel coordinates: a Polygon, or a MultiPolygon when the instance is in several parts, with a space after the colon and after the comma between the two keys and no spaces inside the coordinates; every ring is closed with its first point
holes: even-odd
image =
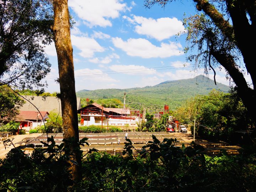
{"type": "MultiPolygon", "coordinates": [[[[197,3],[197,9],[203,10],[214,22],[214,24],[222,31],[223,35],[229,39],[230,42],[236,44],[242,53],[247,73],[250,74],[253,84],[253,89],[247,85],[244,75],[236,67],[234,58],[231,55],[226,55],[218,51],[212,52],[213,56],[224,66],[231,78],[237,86],[237,92],[241,98],[244,106],[247,108],[248,115],[256,126],[256,73],[255,65],[255,51],[256,43],[256,4],[255,1],[233,1],[226,0],[226,6],[229,11],[233,26],[229,21],[225,20],[223,14],[210,4],[208,0],[193,0],[197,3]],[[250,20],[248,19],[248,15],[250,20]]],[[[252,134],[252,138],[256,138],[256,129],[252,134]]]]}

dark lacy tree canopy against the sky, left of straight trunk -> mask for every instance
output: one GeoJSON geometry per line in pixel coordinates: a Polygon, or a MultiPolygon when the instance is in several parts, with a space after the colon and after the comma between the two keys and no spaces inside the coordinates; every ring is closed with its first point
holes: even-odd
{"type": "Polygon", "coordinates": [[[0,85],[43,87],[50,63],[44,45],[52,42],[49,0],[0,1],[0,85]]]}

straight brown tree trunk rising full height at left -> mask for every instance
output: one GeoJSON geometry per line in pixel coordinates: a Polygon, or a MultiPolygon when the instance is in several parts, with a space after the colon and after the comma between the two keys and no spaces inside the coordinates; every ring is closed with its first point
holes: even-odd
{"type": "Polygon", "coordinates": [[[78,165],[72,165],[73,180],[80,177],[81,152],[79,148],[78,115],[75,93],[75,76],[73,63],[73,48],[70,39],[70,23],[68,0],[53,0],[54,7],[54,42],[58,56],[60,100],[63,119],[63,138],[72,141],[65,142],[65,147],[70,150],[70,159],[78,165]]]}

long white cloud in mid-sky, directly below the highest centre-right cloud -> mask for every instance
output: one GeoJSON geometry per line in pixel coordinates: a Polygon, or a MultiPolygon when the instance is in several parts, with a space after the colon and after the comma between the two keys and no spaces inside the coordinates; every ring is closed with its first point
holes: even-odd
{"type": "Polygon", "coordinates": [[[184,54],[180,43],[169,42],[161,43],[157,47],[146,39],[132,39],[123,41],[121,38],[112,38],[115,47],[122,49],[127,55],[138,56],[142,58],[166,58],[171,56],[178,56],[184,54]]]}

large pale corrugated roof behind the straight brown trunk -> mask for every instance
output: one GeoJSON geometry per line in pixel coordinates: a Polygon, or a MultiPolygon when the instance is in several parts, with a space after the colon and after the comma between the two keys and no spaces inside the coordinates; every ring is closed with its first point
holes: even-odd
{"type": "MultiPolygon", "coordinates": [[[[23,96],[27,100],[29,100],[33,105],[35,105],[39,111],[53,111],[55,110],[57,113],[60,112],[60,115],[62,114],[61,111],[61,102],[60,99],[57,97],[46,97],[45,100],[43,96],[23,96]],[[32,100],[32,97],[34,99],[32,100]]],[[[37,111],[37,109],[28,101],[24,100],[26,103],[23,104],[23,106],[20,107],[20,111],[37,111]]],[[[81,102],[80,97],[76,97],[77,101],[77,109],[79,110],[81,108],[81,102]]]]}

